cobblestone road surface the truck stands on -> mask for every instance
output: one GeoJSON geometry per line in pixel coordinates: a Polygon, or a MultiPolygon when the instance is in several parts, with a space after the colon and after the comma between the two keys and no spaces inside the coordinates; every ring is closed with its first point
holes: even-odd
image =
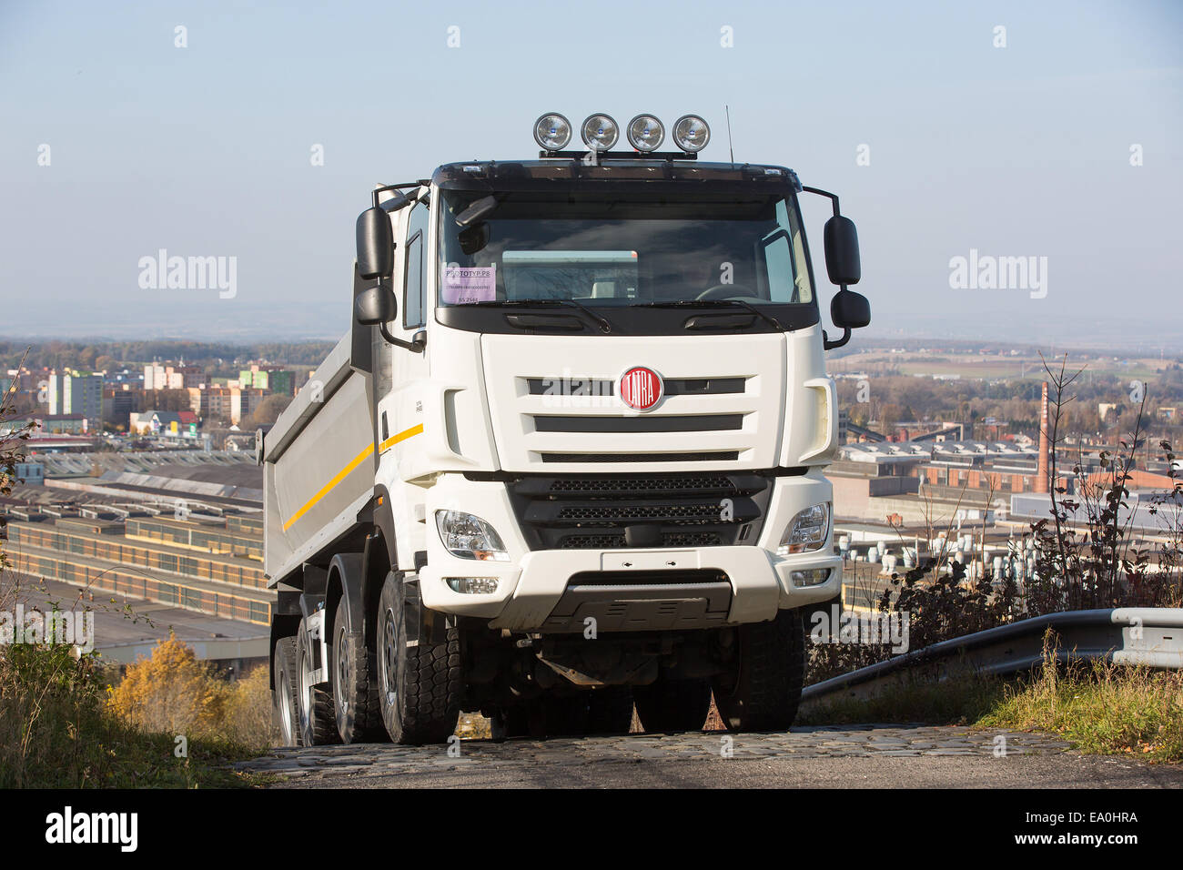
{"type": "Polygon", "coordinates": [[[295,787],[1174,786],[1183,769],[1082,756],[1043,734],[933,726],[629,734],[277,749],[239,765],[295,787]],[[736,763],[748,762],[748,763],[736,763]],[[750,762],[761,762],[752,765],[750,762]]]}

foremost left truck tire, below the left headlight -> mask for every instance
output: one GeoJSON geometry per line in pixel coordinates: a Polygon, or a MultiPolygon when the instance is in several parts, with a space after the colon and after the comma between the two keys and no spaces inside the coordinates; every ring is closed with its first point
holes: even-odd
{"type": "MultiPolygon", "coordinates": [[[[407,646],[408,618],[421,613],[408,601],[408,584],[390,573],[382,586],[377,612],[377,683],[382,722],[395,743],[444,743],[455,732],[464,689],[460,632],[446,629],[440,643],[419,640],[407,646]],[[412,605],[412,606],[408,606],[412,605]]],[[[418,599],[418,589],[412,591],[418,599]]]]}

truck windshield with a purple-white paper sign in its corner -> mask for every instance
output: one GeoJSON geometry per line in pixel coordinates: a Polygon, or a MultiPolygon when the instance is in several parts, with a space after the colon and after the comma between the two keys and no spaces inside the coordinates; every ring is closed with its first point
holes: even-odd
{"type": "Polygon", "coordinates": [[[490,194],[441,193],[442,307],[814,307],[796,206],[782,195],[499,193],[460,227],[490,194]]]}

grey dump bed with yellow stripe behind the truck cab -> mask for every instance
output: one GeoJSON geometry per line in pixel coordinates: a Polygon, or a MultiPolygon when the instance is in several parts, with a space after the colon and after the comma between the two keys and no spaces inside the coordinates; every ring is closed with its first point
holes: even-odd
{"type": "Polygon", "coordinates": [[[345,335],[263,440],[264,569],[271,586],[347,534],[374,491],[367,379],[349,363],[345,335]]]}

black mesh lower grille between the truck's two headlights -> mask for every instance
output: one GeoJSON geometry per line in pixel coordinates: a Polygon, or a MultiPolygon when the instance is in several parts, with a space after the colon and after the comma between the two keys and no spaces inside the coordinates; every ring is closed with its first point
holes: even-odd
{"type": "Polygon", "coordinates": [[[771,491],[757,472],[530,475],[508,485],[534,549],[755,543],[771,491]]]}

